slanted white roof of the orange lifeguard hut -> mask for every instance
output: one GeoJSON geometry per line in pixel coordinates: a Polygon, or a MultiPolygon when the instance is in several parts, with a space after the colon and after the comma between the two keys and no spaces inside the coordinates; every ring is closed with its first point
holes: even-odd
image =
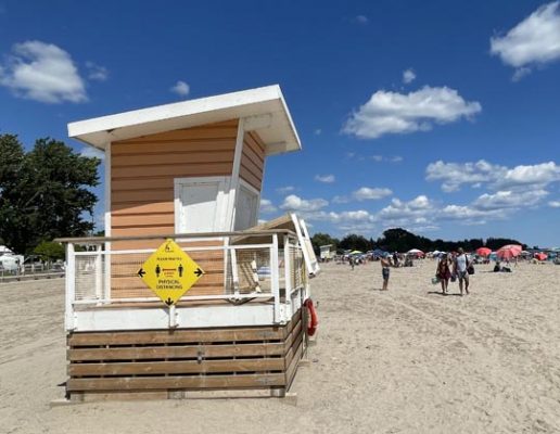
{"type": "Polygon", "coordinates": [[[240,117],[250,118],[267,155],[302,149],[278,85],[79,120],[68,124],[68,136],[104,150],[116,140],[240,117]]]}

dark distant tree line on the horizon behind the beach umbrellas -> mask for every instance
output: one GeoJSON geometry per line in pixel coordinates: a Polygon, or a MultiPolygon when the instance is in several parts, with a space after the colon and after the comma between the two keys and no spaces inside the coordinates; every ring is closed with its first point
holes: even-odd
{"type": "Polygon", "coordinates": [[[521,244],[523,248],[526,248],[525,244],[507,238],[466,239],[462,241],[431,240],[402,228],[387,229],[377,240],[372,238],[368,240],[364,235],[355,233],[339,240],[328,233],[319,232],[313,235],[311,243],[317,254],[319,253],[319,246],[327,244],[332,244],[333,248],[339,252],[346,250],[367,252],[377,248],[385,252],[408,252],[411,248],[419,248],[422,252],[456,252],[459,247],[462,247],[466,252],[474,252],[479,247],[488,247],[496,251],[506,244],[521,244]]]}

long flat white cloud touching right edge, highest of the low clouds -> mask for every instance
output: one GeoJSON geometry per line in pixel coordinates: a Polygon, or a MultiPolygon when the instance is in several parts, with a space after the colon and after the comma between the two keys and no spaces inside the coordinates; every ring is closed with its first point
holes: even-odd
{"type": "Polygon", "coordinates": [[[445,192],[457,191],[462,184],[487,184],[494,190],[530,186],[539,189],[560,180],[560,166],[555,162],[547,162],[508,168],[484,159],[475,163],[437,161],[428,165],[425,174],[429,181],[442,181],[442,190],[445,192]]]}

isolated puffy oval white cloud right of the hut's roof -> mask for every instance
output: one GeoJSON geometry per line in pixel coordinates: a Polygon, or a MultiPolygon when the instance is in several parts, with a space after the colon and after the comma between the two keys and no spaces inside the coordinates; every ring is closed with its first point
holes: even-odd
{"type": "Polygon", "coordinates": [[[429,86],[410,93],[379,90],[352,114],[343,131],[361,139],[389,133],[410,133],[432,129],[481,112],[479,102],[466,101],[455,89],[429,86]]]}

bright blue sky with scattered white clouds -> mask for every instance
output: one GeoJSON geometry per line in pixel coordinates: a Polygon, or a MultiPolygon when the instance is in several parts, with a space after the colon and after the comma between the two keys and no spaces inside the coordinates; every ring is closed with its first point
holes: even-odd
{"type": "Polygon", "coordinates": [[[560,245],[558,1],[0,0],[0,131],[26,146],[271,84],[304,150],[267,161],[262,218],[560,245]]]}

